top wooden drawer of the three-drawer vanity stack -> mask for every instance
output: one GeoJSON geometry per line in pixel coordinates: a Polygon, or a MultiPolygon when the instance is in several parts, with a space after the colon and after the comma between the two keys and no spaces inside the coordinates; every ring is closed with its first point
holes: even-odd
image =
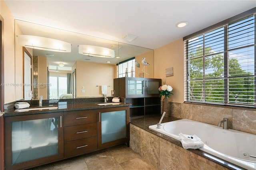
{"type": "Polygon", "coordinates": [[[95,123],[97,121],[97,110],[80,110],[64,112],[64,127],[95,123]]]}

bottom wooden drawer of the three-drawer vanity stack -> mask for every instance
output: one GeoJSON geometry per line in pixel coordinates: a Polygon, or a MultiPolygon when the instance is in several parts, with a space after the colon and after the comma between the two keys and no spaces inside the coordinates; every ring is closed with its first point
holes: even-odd
{"type": "Polygon", "coordinates": [[[64,143],[66,158],[97,150],[97,136],[64,143]]]}

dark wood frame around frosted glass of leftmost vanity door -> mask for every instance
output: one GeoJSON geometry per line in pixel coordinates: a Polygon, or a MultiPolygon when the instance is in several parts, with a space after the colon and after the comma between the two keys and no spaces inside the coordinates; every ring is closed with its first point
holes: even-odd
{"type": "Polygon", "coordinates": [[[4,117],[5,169],[6,170],[25,169],[25,168],[31,168],[34,166],[40,166],[46,163],[56,162],[57,160],[62,160],[64,158],[64,140],[63,140],[64,128],[63,127],[64,127],[63,112],[4,117]],[[35,120],[35,119],[47,119],[51,117],[60,117],[60,121],[58,121],[58,154],[12,165],[12,122],[35,120]]]}

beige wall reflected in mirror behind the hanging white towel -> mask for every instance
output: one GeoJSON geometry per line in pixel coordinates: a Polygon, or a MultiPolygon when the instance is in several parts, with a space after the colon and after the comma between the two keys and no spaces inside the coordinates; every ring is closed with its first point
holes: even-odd
{"type": "Polygon", "coordinates": [[[116,65],[77,61],[76,98],[102,96],[101,85],[108,86],[107,96],[111,96],[115,77],[116,65]],[[82,86],[84,86],[84,93],[82,93],[82,86]]]}

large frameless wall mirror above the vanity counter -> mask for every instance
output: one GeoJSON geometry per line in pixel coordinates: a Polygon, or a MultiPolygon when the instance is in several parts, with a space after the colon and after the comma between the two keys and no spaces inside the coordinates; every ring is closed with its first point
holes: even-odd
{"type": "MultiPolygon", "coordinates": [[[[89,25],[88,25],[89,26],[89,25]]],[[[86,28],[85,28],[86,29],[86,28]]],[[[150,65],[144,68],[145,78],[154,78],[154,50],[117,41],[110,41],[80,33],[15,20],[15,83],[16,100],[24,99],[24,48],[17,42],[18,35],[35,35],[71,43],[70,53],[27,48],[32,55],[32,100],[59,98],[88,98],[102,96],[101,87],[106,85],[107,96],[114,89],[113,79],[117,78],[116,64],[132,57],[140,63],[134,68],[134,76],[143,73],[141,61],[146,58],[150,65]],[[78,53],[78,45],[94,45],[115,51],[114,58],[91,57],[78,53]],[[110,63],[107,63],[110,62],[110,63]],[[69,82],[69,83],[68,83],[69,82]],[[70,86],[71,91],[67,91],[70,86]],[[74,92],[75,91],[75,92],[74,92]]],[[[24,95],[25,94],[25,95],[24,95]]]]}

